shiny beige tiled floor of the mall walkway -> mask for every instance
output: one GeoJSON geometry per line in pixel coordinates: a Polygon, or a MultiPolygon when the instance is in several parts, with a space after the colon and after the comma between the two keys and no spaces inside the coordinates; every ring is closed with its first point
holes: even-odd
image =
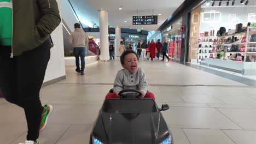
{"type": "MultiPolygon", "coordinates": [[[[256,87],[174,62],[142,61],[149,91],[163,112],[175,144],[256,143],[256,87]]],[[[40,143],[89,143],[92,124],[113,87],[119,61],[86,65],[85,75],[67,66],[67,79],[42,88],[43,104],[54,105],[40,143]]],[[[0,143],[26,139],[24,111],[0,99],[0,143]]]]}

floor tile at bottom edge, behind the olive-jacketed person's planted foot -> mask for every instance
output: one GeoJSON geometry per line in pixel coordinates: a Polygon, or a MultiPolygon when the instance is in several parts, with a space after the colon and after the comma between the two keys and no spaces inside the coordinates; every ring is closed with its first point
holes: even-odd
{"type": "MultiPolygon", "coordinates": [[[[40,132],[39,142],[42,144],[55,144],[69,127],[70,125],[48,124],[47,127],[40,132]]],[[[26,133],[23,134],[19,139],[15,140],[11,144],[25,142],[26,135],[26,133]]]]}

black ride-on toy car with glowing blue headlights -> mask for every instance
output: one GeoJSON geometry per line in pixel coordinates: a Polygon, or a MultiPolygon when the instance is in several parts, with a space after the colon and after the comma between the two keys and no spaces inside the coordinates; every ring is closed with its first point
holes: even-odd
{"type": "MultiPolygon", "coordinates": [[[[111,90],[110,90],[111,91],[111,90]]],[[[161,111],[154,99],[139,98],[141,92],[125,89],[121,98],[106,99],[92,128],[90,144],[173,144],[161,111]]]]}

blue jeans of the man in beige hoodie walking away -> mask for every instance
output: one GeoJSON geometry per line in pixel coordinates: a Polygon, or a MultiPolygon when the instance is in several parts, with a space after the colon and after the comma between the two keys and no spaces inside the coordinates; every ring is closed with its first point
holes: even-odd
{"type": "Polygon", "coordinates": [[[81,58],[81,71],[85,68],[85,47],[74,47],[73,53],[75,56],[75,65],[77,65],[77,70],[80,70],[79,57],[81,58]]]}

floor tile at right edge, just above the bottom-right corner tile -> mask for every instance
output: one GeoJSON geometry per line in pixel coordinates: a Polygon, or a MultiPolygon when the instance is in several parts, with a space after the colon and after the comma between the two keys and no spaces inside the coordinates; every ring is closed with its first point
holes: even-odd
{"type": "Polygon", "coordinates": [[[220,112],[229,117],[245,130],[256,130],[256,109],[225,109],[218,108],[220,112]]]}

